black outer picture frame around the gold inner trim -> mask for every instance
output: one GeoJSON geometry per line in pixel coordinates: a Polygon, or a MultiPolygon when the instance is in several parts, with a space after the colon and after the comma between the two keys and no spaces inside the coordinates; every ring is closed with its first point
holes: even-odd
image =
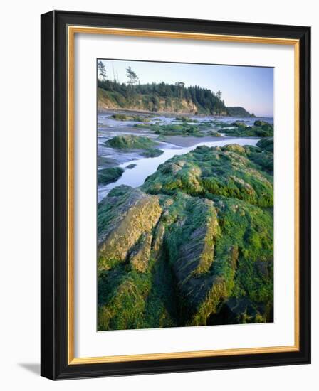
{"type": "Polygon", "coordinates": [[[310,363],[310,27],[51,11],[41,16],[41,375],[52,380],[310,363]],[[68,365],[68,25],[296,39],[300,43],[299,350],[68,365]]]}

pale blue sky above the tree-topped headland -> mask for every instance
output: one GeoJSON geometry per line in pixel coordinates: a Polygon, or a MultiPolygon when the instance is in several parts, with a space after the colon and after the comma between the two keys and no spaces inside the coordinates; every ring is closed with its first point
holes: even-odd
{"type": "MultiPolygon", "coordinates": [[[[98,59],[100,60],[100,59],[98,59]]],[[[107,78],[127,82],[126,69],[137,73],[140,83],[184,82],[221,91],[225,105],[241,106],[257,117],[273,117],[273,68],[238,65],[157,63],[151,61],[103,60],[107,78]]]]}

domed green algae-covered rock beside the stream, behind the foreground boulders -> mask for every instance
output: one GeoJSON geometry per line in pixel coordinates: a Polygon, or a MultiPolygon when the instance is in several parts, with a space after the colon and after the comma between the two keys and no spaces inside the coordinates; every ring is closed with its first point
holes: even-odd
{"type": "Polygon", "coordinates": [[[243,146],[231,144],[221,149],[199,146],[183,156],[162,164],[142,186],[147,193],[213,195],[238,198],[253,205],[273,205],[273,177],[250,159],[243,146]]]}

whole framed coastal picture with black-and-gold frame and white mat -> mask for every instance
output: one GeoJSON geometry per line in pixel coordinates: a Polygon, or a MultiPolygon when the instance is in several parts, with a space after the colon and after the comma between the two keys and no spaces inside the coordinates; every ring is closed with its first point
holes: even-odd
{"type": "Polygon", "coordinates": [[[310,28],[41,16],[41,375],[310,363],[310,28]]]}

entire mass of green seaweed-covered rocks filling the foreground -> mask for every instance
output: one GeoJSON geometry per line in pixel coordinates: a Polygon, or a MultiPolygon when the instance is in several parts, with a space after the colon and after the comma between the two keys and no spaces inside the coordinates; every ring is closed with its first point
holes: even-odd
{"type": "Polygon", "coordinates": [[[273,159],[198,147],[98,206],[98,328],[272,320],[273,159]]]}

